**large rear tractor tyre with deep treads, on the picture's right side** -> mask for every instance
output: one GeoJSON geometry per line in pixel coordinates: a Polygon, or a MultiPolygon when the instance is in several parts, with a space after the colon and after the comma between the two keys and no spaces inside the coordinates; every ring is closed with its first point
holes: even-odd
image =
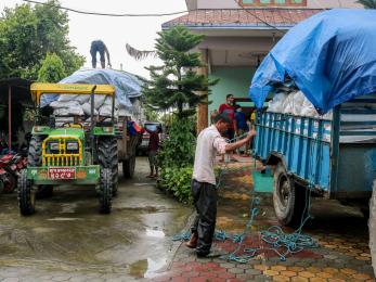
{"type": "Polygon", "coordinates": [[[118,191],[118,157],[117,157],[117,140],[113,137],[100,138],[98,141],[98,161],[101,168],[108,168],[112,172],[113,196],[118,191]]]}

